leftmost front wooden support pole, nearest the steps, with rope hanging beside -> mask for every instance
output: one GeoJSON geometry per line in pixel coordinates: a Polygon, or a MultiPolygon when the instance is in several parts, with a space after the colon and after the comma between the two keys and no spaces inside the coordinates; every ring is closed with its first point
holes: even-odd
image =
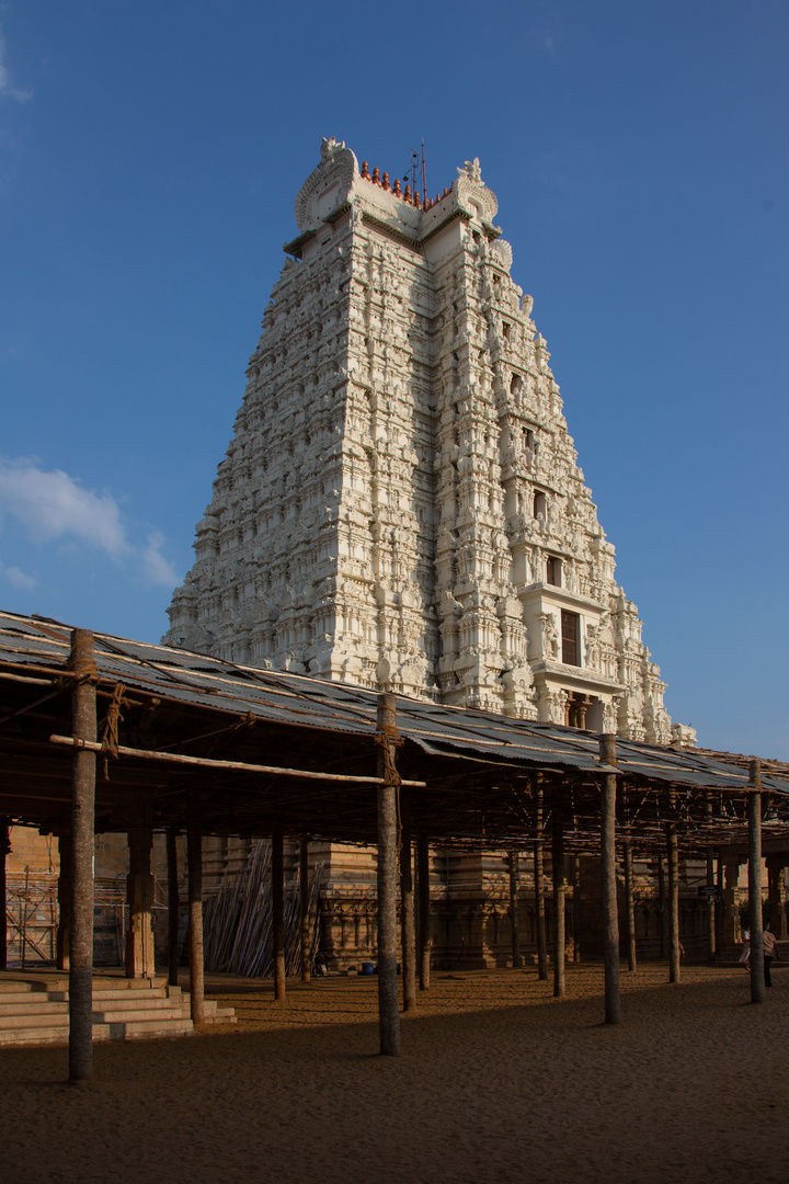
{"type": "MultiPolygon", "coordinates": [[[[69,665],[78,676],[71,690],[76,741],[96,742],[96,657],[93,635],[71,633],[69,665]]],[[[69,1081],[93,1073],[93,851],[96,753],[75,748],[71,796],[71,952],[69,960],[69,1081]]]]}

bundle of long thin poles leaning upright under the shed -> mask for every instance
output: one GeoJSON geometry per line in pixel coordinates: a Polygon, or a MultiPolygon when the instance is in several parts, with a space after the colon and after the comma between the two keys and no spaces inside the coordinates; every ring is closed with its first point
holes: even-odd
{"type": "MultiPolygon", "coordinates": [[[[308,881],[309,963],[318,948],[318,901],[323,866],[308,881]]],[[[283,931],[285,973],[297,974],[302,965],[300,871],[285,888],[283,931]]],[[[245,978],[271,978],[274,969],[273,900],[271,890],[271,843],[258,839],[235,880],[222,883],[206,901],[206,970],[225,971],[245,978]]]]}

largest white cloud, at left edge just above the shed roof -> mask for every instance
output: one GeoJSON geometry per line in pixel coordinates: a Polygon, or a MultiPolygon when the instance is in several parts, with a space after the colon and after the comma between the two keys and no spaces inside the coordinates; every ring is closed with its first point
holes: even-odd
{"type": "Polygon", "coordinates": [[[119,558],[130,552],[121,511],[110,494],[83,489],[60,469],[30,461],[0,462],[0,515],[15,517],[33,542],[72,538],[119,558]]]}

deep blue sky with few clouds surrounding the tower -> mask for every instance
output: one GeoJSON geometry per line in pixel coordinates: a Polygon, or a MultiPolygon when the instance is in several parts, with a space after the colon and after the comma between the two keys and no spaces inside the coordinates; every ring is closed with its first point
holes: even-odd
{"type": "Polygon", "coordinates": [[[0,605],[157,641],[335,135],[479,156],[701,744],[789,759],[785,0],[0,2],[0,605]]]}

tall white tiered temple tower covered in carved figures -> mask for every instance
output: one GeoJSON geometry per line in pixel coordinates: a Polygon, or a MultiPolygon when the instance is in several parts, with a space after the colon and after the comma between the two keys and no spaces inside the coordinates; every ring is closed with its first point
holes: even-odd
{"type": "Polygon", "coordinates": [[[164,639],[670,742],[496,197],[458,173],[426,202],[324,140],[164,639]]]}

